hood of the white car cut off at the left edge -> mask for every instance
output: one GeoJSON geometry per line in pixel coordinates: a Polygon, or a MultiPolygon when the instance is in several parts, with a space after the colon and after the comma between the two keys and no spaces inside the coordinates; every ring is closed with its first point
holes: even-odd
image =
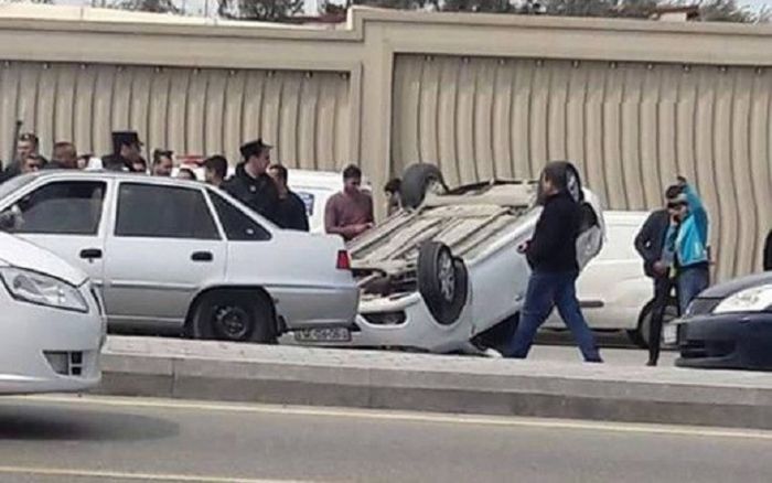
{"type": "Polygon", "coordinates": [[[79,287],[88,276],[56,255],[13,235],[0,232],[0,266],[25,268],[79,287]]]}

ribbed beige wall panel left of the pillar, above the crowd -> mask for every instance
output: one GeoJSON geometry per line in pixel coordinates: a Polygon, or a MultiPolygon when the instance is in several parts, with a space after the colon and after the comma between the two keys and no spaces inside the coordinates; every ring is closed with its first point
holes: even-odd
{"type": "MultiPolygon", "coordinates": [[[[0,67],[0,142],[13,124],[41,138],[106,154],[112,130],[132,129],[147,143],[179,154],[225,153],[262,137],[274,160],[336,170],[347,159],[350,85],[345,73],[228,71],[11,62],[0,67]]],[[[0,153],[8,159],[10,152],[0,153]]]]}

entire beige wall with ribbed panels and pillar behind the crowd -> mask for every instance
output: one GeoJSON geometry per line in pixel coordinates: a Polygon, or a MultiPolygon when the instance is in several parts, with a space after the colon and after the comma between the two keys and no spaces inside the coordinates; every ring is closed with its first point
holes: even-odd
{"type": "Polygon", "coordinates": [[[235,159],[261,135],[288,165],[358,161],[377,184],[422,160],[451,183],[570,158],[611,208],[678,173],[705,194],[718,275],[760,266],[772,225],[768,26],[356,9],[335,30],[75,8],[0,8],[1,149],[14,118],[82,151],[235,159]],[[204,151],[204,152],[196,152],[204,151]]]}

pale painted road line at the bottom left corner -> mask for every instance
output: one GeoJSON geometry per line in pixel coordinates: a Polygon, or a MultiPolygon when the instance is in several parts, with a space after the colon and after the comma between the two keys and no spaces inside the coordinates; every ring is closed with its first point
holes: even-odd
{"type": "Polygon", "coordinates": [[[0,466],[0,474],[25,474],[35,476],[60,477],[79,476],[100,480],[174,481],[185,483],[303,483],[299,480],[265,480],[250,477],[204,476],[163,473],[125,473],[120,471],[67,470],[36,466],[0,466]]]}

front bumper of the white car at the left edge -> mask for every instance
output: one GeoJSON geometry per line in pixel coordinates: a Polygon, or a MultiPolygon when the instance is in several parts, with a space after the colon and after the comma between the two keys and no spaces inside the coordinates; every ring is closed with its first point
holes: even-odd
{"type": "Polygon", "coordinates": [[[20,302],[0,289],[0,394],[78,391],[99,383],[106,322],[94,296],[82,293],[88,313],[20,302]]]}

